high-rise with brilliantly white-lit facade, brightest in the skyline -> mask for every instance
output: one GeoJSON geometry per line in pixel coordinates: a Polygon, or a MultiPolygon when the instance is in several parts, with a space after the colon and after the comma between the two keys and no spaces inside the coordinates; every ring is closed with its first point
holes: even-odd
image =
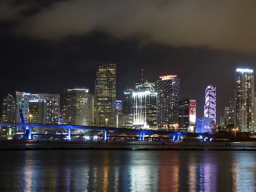
{"type": "Polygon", "coordinates": [[[156,129],[157,92],[133,92],[133,127],[156,129]]]}

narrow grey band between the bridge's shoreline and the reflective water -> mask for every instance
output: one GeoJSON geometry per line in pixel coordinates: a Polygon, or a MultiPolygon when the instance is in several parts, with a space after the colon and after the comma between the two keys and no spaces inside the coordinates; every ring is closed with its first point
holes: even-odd
{"type": "Polygon", "coordinates": [[[256,142],[0,140],[0,150],[255,150],[256,142]]]}

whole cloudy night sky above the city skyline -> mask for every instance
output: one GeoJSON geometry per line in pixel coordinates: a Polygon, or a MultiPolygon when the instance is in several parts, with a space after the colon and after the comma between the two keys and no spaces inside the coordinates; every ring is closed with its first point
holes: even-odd
{"type": "Polygon", "coordinates": [[[177,75],[180,99],[196,99],[202,116],[215,85],[219,123],[236,68],[256,70],[255,53],[256,1],[0,1],[1,100],[15,90],[93,93],[99,63],[110,61],[118,100],[141,69],[147,80],[177,75]]]}

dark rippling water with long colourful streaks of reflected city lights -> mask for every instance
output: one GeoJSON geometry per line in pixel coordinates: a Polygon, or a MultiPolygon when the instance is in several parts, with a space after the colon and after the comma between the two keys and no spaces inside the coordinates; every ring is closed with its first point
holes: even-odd
{"type": "Polygon", "coordinates": [[[0,191],[256,191],[256,152],[1,151],[0,191]]]}

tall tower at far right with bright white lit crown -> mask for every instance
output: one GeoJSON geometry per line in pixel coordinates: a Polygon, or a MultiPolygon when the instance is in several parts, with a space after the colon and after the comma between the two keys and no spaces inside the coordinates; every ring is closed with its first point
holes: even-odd
{"type": "Polygon", "coordinates": [[[236,126],[241,132],[256,131],[253,70],[237,68],[236,72],[236,126]]]}

